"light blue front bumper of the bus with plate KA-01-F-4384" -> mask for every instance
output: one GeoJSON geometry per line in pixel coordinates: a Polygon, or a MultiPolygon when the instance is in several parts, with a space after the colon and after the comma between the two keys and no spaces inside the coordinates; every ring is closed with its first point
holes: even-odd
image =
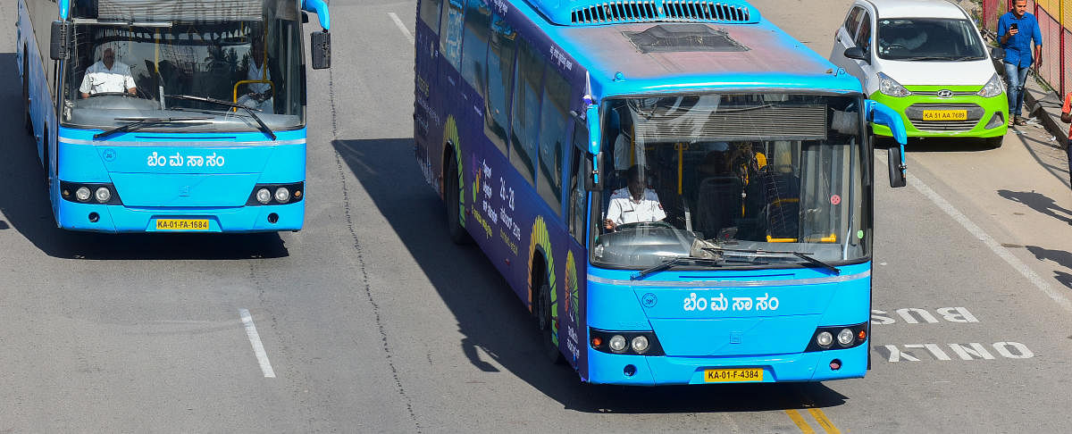
{"type": "MultiPolygon", "coordinates": [[[[762,380],[824,381],[860,378],[867,371],[870,340],[846,349],[756,357],[671,357],[614,355],[589,348],[589,383],[627,386],[703,385],[708,370],[759,368],[762,380]],[[834,370],[831,362],[839,362],[834,370]],[[627,373],[632,373],[628,375],[627,373]]],[[[734,381],[744,383],[744,381],[734,381]]]]}

